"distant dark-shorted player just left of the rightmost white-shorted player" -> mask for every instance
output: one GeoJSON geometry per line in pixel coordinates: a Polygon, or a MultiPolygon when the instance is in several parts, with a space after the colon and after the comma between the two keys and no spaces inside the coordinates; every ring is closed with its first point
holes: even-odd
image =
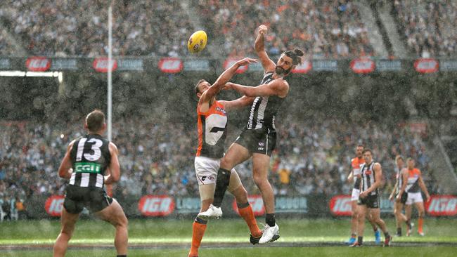
{"type": "MultiPolygon", "coordinates": [[[[408,230],[411,230],[411,223],[408,222],[406,216],[403,214],[403,207],[406,204],[406,199],[408,197],[408,193],[404,192],[401,195],[399,194],[401,190],[401,186],[403,185],[404,180],[404,173],[406,173],[406,168],[404,168],[404,159],[401,155],[397,155],[395,157],[395,162],[397,164],[397,181],[395,182],[394,188],[392,189],[392,193],[390,194],[390,201],[395,199],[394,204],[394,215],[395,220],[397,221],[397,237],[401,237],[401,223],[406,223],[408,230]]],[[[406,187],[406,185],[405,185],[406,187]]]]}

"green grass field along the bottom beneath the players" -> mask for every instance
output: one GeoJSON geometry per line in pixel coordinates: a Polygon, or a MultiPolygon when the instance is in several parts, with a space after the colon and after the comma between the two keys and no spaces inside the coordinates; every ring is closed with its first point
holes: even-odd
{"type": "MultiPolygon", "coordinates": [[[[391,233],[394,220],[387,219],[391,233]]],[[[202,241],[200,256],[456,256],[457,220],[425,220],[425,237],[395,237],[392,247],[373,244],[366,230],[366,246],[351,249],[342,242],[349,220],[280,219],[281,238],[265,246],[249,244],[249,232],[240,219],[212,220],[202,241]],[[356,253],[354,255],[354,253],[356,253]]],[[[51,256],[59,232],[58,220],[0,223],[0,256],[51,256]]],[[[129,220],[129,256],[187,256],[192,220],[129,220]]],[[[67,256],[115,256],[114,228],[99,220],[79,220],[67,256]]]]}

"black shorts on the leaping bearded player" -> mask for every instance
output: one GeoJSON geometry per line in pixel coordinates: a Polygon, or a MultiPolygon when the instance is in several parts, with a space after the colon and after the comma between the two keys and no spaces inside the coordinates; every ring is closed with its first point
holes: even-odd
{"type": "Polygon", "coordinates": [[[266,129],[244,129],[235,143],[246,147],[251,153],[266,154],[271,156],[271,152],[276,147],[276,131],[266,129]]]}

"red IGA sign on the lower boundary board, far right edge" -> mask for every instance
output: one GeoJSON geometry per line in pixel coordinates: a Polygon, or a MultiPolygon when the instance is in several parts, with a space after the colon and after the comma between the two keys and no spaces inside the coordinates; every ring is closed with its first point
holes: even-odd
{"type": "Polygon", "coordinates": [[[457,197],[451,195],[432,195],[430,202],[425,203],[430,216],[457,215],[457,197]]]}

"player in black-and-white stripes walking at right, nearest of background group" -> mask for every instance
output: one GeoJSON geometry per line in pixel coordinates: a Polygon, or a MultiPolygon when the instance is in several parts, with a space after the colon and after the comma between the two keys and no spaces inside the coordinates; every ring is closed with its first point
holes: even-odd
{"type": "Polygon", "coordinates": [[[380,217],[379,192],[378,187],[381,185],[382,169],[378,162],[373,162],[373,154],[371,150],[363,150],[363,159],[365,163],[360,167],[361,183],[360,196],[357,203],[357,212],[359,213],[359,224],[357,225],[357,241],[352,244],[352,247],[363,245],[363,230],[365,227],[365,217],[370,215],[373,221],[378,224],[379,228],[384,232],[384,246],[390,246],[392,237],[387,231],[384,220],[380,217]]]}

